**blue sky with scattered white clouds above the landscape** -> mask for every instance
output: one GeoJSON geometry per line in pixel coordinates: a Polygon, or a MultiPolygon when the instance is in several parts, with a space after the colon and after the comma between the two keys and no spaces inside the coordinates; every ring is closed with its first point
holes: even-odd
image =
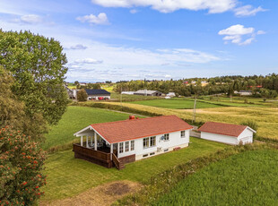
{"type": "Polygon", "coordinates": [[[58,40],[68,82],[278,73],[276,0],[0,0],[2,30],[58,40]]]}

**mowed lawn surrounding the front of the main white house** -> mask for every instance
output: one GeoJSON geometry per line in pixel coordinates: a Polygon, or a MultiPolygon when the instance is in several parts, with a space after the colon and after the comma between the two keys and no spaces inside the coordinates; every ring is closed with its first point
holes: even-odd
{"type": "Polygon", "coordinates": [[[42,201],[52,202],[64,199],[82,193],[91,187],[115,180],[146,183],[151,176],[155,176],[169,167],[227,147],[221,143],[195,138],[190,138],[190,142],[185,149],[126,164],[126,168],[123,170],[101,167],[83,159],[74,159],[72,150],[56,152],[49,155],[46,161],[45,173],[48,175],[48,185],[42,188],[45,192],[42,201]]]}

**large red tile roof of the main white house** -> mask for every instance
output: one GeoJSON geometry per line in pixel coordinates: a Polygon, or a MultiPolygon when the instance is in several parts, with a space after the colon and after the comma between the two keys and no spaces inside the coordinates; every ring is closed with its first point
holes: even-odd
{"type": "Polygon", "coordinates": [[[178,116],[127,119],[111,123],[91,124],[91,127],[109,143],[125,142],[193,128],[178,116]]]}

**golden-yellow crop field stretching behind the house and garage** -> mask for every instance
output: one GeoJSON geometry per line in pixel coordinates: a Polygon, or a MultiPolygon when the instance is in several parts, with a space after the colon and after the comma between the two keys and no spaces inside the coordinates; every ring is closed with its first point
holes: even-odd
{"type": "MultiPolygon", "coordinates": [[[[105,104],[120,105],[118,102],[105,104]]],[[[172,109],[150,107],[132,103],[122,103],[124,107],[131,107],[158,115],[176,115],[185,119],[192,119],[192,109],[172,109]]],[[[223,122],[240,124],[247,119],[254,120],[259,128],[257,134],[262,137],[278,140],[278,107],[214,107],[196,109],[196,122],[223,122]]]]}

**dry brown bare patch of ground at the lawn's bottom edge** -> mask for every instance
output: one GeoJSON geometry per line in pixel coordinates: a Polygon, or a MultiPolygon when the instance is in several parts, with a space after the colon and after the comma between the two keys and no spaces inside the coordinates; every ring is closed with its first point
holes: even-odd
{"type": "Polygon", "coordinates": [[[40,202],[39,205],[51,206],[106,206],[117,201],[129,193],[135,193],[142,185],[131,181],[116,181],[105,185],[99,185],[77,196],[58,200],[56,202],[40,202]]]}

